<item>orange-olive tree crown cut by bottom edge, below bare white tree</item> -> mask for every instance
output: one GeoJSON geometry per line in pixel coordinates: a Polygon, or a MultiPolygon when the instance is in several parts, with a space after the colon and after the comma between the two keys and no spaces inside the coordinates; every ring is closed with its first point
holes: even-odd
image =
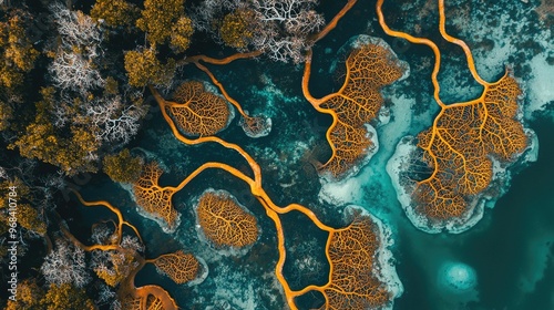
{"type": "Polygon", "coordinates": [[[80,309],[94,310],[94,302],[86,296],[83,289],[64,285],[51,285],[47,294],[41,300],[41,306],[47,310],[80,309]]]}

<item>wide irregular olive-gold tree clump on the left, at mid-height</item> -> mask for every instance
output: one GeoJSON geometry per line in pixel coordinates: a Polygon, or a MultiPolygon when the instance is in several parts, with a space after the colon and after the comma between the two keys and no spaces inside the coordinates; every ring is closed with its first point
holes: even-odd
{"type": "Polygon", "coordinates": [[[42,89],[43,100],[37,103],[37,115],[25,132],[10,145],[19,147],[21,156],[37,158],[60,167],[68,175],[82,172],[96,172],[91,157],[94,157],[100,143],[84,126],[59,130],[50,117],[53,110],[54,90],[42,89]]]}

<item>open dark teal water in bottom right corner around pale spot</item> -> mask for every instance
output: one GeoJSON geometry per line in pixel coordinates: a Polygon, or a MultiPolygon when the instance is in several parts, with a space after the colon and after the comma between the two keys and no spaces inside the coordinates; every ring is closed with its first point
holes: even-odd
{"type": "Polygon", "coordinates": [[[538,161],[515,175],[505,196],[461,235],[400,232],[398,272],[404,294],[396,309],[554,309],[554,156],[550,121],[535,122],[538,161]],[[448,261],[476,272],[476,299],[465,307],[440,287],[448,261]]]}

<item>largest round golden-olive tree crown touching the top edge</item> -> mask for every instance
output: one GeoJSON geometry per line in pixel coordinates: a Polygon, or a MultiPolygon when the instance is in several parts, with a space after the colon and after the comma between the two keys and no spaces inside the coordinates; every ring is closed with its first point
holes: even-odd
{"type": "Polygon", "coordinates": [[[136,27],[146,32],[152,44],[164,43],[184,13],[184,0],[146,0],[136,27]]]}

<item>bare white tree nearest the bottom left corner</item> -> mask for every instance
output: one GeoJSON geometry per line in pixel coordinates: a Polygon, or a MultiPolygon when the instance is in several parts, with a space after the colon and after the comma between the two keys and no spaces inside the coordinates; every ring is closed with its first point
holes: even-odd
{"type": "Polygon", "coordinates": [[[40,270],[44,279],[54,285],[73,283],[82,288],[91,280],[84,251],[62,239],[55,241],[55,249],[47,255],[40,270]]]}

